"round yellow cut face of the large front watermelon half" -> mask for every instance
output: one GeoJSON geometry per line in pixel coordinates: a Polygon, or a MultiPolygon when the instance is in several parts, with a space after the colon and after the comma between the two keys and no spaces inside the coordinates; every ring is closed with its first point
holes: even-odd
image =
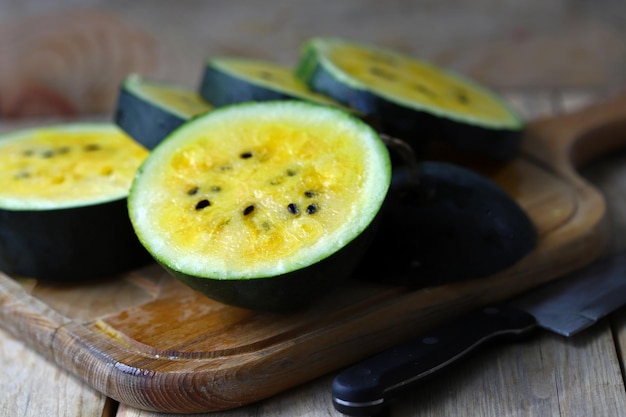
{"type": "Polygon", "coordinates": [[[184,139],[157,148],[133,185],[131,216],[157,259],[199,276],[272,276],[292,268],[285,259],[342,247],[346,229],[371,220],[370,193],[386,191],[372,185],[386,172],[373,131],[337,123],[336,110],[231,113],[178,131],[184,139]]]}

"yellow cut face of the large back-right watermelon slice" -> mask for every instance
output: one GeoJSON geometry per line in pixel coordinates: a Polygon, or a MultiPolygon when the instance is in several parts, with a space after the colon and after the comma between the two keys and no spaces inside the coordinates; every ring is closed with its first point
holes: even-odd
{"type": "Polygon", "coordinates": [[[490,92],[410,56],[344,42],[330,43],[325,53],[337,69],[381,96],[494,126],[519,123],[490,92]]]}

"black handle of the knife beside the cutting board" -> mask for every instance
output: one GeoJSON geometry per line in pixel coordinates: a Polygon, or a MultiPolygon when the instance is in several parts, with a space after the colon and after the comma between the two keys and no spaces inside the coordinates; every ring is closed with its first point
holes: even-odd
{"type": "Polygon", "coordinates": [[[333,406],[351,416],[376,415],[390,398],[485,342],[522,335],[536,326],[535,318],[524,311],[485,307],[345,369],[333,381],[333,406]]]}

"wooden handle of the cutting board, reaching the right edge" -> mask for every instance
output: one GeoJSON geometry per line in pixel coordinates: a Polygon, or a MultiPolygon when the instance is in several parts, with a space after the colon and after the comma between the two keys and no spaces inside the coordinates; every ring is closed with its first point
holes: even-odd
{"type": "Polygon", "coordinates": [[[626,91],[560,117],[535,120],[524,141],[527,154],[574,174],[599,156],[626,147],[626,91]]]}

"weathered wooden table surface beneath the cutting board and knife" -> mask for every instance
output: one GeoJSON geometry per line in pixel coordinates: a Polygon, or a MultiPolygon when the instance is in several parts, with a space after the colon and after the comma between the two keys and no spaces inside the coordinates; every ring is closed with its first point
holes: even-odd
{"type": "MultiPolygon", "coordinates": [[[[549,116],[599,98],[587,92],[517,92],[506,97],[524,117],[549,116]]],[[[626,152],[605,156],[583,175],[607,196],[613,239],[626,248],[626,152]],[[623,236],[622,236],[623,235],[623,236]]],[[[391,405],[390,416],[626,416],[626,310],[566,339],[537,332],[490,346],[391,405]]],[[[106,398],[0,330],[0,415],[158,417],[106,398]]],[[[207,414],[339,416],[334,374],[240,409],[207,414]]]]}

